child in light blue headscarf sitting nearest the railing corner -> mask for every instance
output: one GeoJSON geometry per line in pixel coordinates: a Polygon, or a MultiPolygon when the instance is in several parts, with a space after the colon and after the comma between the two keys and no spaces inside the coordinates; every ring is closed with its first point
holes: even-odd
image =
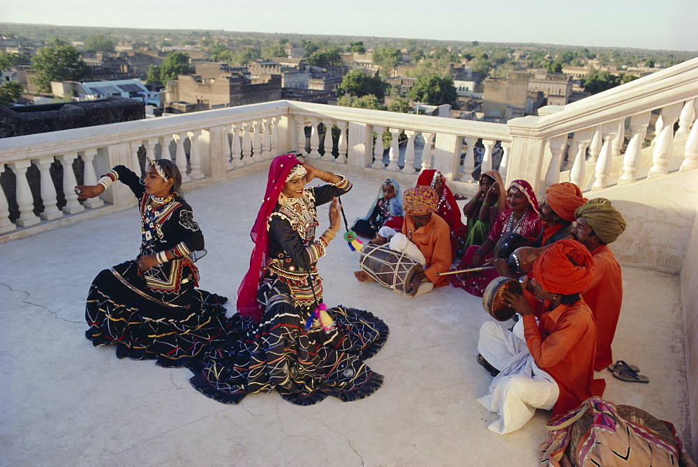
{"type": "Polygon", "coordinates": [[[373,238],[384,225],[399,230],[402,227],[402,191],[394,179],[385,179],[378,196],[366,216],[357,219],[351,230],[363,237],[373,238]]]}

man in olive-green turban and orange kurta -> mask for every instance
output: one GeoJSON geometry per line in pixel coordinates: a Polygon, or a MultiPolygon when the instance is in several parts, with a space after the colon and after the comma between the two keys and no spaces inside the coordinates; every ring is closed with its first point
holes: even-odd
{"type": "Polygon", "coordinates": [[[600,371],[613,363],[611,343],[616,334],[623,302],[623,278],[613,251],[614,242],[625,230],[625,220],[611,202],[595,198],[575,212],[577,225],[572,236],[586,246],[594,258],[594,274],[581,296],[596,321],[597,347],[594,369],[600,371]]]}

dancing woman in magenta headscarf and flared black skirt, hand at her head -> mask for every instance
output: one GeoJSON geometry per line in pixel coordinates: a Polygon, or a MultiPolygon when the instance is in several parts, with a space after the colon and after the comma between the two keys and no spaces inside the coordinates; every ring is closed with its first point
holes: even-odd
{"type": "Polygon", "coordinates": [[[364,360],[378,352],[388,328],[368,311],[327,309],[320,256],[339,231],[339,202],[350,182],[305,165],[293,154],[269,168],[267,190],[251,231],[255,246],[238,290],[240,332],[195,369],[191,384],[223,403],[276,390],[301,406],[335,396],[354,401],[383,383],[364,360]],[[313,178],[327,184],[306,188],[313,178]],[[332,202],[330,227],[319,237],[316,207],[332,202]]]}

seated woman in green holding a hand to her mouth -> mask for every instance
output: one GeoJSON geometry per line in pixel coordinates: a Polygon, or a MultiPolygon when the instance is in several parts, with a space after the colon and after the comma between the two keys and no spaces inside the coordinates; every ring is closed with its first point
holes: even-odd
{"type": "Polygon", "coordinates": [[[463,214],[468,222],[468,235],[464,244],[466,249],[482,245],[497,217],[506,209],[503,186],[502,176],[496,170],[480,174],[477,193],[463,206],[463,214]]]}

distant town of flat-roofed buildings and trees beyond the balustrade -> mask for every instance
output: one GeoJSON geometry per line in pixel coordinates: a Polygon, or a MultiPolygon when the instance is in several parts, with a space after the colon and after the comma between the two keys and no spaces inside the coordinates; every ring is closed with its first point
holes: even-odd
{"type": "Polygon", "coordinates": [[[0,137],[64,129],[23,125],[21,116],[13,121],[15,113],[91,101],[125,111],[89,124],[279,99],[503,123],[697,56],[477,40],[0,24],[6,128],[0,137]]]}

